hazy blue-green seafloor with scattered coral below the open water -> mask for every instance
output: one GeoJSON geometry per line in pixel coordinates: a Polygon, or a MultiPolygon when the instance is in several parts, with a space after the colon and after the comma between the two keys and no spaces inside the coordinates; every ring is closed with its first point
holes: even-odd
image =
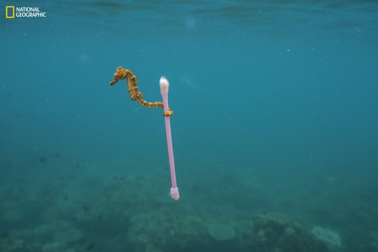
{"type": "MultiPolygon", "coordinates": [[[[213,162],[205,166],[217,170],[217,176],[204,171],[202,179],[182,179],[181,199],[174,202],[168,196],[168,167],[147,162],[90,163],[52,153],[20,176],[7,160],[8,177],[14,175],[12,183],[0,185],[0,251],[378,250],[378,229],[364,224],[378,223],[378,208],[367,207],[360,197],[353,198],[354,204],[347,204],[348,198],[322,207],[323,213],[306,212],[287,202],[303,200],[311,208],[319,199],[306,199],[298,190],[273,201],[270,191],[275,189],[258,179],[235,188],[235,183],[221,183],[235,179],[226,164],[213,162]],[[41,172],[54,179],[41,180],[41,172]],[[342,211],[333,212],[335,206],[342,211]],[[353,222],[353,229],[340,227],[343,222],[353,222]]],[[[183,165],[179,177],[188,175],[192,165],[199,164],[183,165]]],[[[337,188],[337,183],[325,178],[325,185],[337,188]]]]}

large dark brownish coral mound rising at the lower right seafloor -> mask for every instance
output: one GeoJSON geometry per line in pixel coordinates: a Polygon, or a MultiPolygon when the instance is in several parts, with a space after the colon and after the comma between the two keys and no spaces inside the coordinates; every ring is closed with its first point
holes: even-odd
{"type": "Polygon", "coordinates": [[[245,234],[254,252],[327,252],[327,246],[298,223],[277,214],[252,218],[245,234]]]}

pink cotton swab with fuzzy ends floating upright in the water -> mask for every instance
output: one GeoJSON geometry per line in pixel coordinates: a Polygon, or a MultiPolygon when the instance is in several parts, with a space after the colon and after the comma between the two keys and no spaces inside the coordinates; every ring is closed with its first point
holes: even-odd
{"type": "MultiPolygon", "coordinates": [[[[163,76],[160,78],[160,91],[163,97],[164,113],[168,113],[168,80],[163,76]]],[[[172,135],[171,135],[171,123],[169,121],[169,116],[164,116],[165,119],[165,131],[167,133],[167,144],[168,144],[168,157],[169,157],[169,167],[171,169],[171,180],[172,188],[170,195],[173,200],[178,200],[180,198],[179,189],[176,184],[176,173],[175,173],[175,161],[173,159],[173,148],[172,148],[172,135]]]]}

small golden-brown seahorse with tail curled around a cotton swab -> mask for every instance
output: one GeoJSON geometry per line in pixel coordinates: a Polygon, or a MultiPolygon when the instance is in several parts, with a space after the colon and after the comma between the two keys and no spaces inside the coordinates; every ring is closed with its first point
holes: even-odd
{"type": "MultiPolygon", "coordinates": [[[[127,91],[130,93],[131,99],[139,102],[140,105],[148,108],[164,108],[162,101],[148,102],[143,100],[142,93],[138,90],[138,82],[133,72],[122,66],[117,68],[117,72],[114,73],[114,79],[110,82],[110,85],[116,84],[118,81],[127,79],[127,91]]],[[[171,116],[173,111],[169,108],[167,113],[163,113],[163,116],[171,116]]]]}

